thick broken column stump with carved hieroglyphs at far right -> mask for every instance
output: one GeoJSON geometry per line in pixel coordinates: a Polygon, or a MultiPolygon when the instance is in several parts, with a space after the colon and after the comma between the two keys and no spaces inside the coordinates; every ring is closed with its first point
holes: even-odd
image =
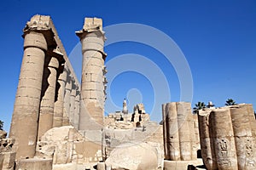
{"type": "Polygon", "coordinates": [[[207,169],[255,169],[253,105],[199,111],[201,154],[207,169]]]}

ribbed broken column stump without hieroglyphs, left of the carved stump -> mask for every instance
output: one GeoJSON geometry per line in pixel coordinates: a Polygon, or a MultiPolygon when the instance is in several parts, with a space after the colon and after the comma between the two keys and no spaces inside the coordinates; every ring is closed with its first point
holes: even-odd
{"type": "Polygon", "coordinates": [[[195,160],[198,147],[190,103],[167,103],[162,105],[162,112],[166,160],[195,160]]]}

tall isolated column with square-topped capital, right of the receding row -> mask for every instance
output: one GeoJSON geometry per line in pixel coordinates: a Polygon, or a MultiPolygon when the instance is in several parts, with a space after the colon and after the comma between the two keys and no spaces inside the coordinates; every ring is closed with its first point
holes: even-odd
{"type": "Polygon", "coordinates": [[[76,33],[82,43],[83,53],[79,129],[93,126],[100,130],[103,126],[106,82],[103,76],[106,54],[103,51],[105,35],[102,19],[85,18],[83,30],[76,33]]]}

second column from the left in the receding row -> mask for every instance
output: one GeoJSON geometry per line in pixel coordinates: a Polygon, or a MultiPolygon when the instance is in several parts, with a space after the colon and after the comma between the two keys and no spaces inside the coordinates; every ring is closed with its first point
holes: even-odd
{"type": "Polygon", "coordinates": [[[55,87],[59,60],[53,56],[47,56],[44,66],[42,101],[38,124],[38,139],[53,127],[55,87]]]}

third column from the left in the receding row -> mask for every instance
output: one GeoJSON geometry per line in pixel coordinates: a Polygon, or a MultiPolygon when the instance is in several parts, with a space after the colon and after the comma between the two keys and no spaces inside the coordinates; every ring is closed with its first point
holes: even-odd
{"type": "Polygon", "coordinates": [[[67,71],[65,71],[64,65],[61,66],[61,70],[62,71],[59,72],[60,76],[56,85],[56,89],[58,90],[57,100],[55,101],[53,127],[61,127],[63,122],[64,94],[67,81],[67,71]]]}

